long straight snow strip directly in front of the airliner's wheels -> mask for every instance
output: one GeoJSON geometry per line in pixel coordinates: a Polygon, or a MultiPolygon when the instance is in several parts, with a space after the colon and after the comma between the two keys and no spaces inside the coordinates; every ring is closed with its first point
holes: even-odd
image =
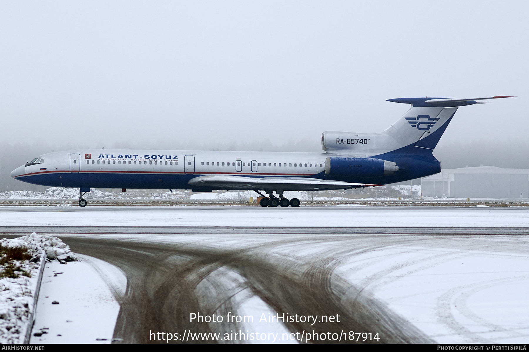
{"type": "Polygon", "coordinates": [[[529,209],[2,207],[2,226],[529,227],[529,209]]]}

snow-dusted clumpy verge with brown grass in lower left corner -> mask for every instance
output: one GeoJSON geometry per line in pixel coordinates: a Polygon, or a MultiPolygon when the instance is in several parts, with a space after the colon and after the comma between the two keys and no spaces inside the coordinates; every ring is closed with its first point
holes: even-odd
{"type": "Polygon", "coordinates": [[[21,344],[33,312],[42,251],[50,260],[76,261],[70,247],[51,235],[0,239],[0,343],[21,344]]]}

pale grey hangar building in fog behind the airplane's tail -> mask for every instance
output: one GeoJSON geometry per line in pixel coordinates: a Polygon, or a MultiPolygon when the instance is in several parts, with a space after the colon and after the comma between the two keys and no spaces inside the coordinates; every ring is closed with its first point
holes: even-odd
{"type": "Polygon", "coordinates": [[[422,179],[423,197],[529,198],[529,170],[496,166],[443,169],[422,179]]]}

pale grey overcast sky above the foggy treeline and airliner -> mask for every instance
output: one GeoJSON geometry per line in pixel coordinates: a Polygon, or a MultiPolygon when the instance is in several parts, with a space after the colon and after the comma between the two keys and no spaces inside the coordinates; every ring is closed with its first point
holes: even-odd
{"type": "Polygon", "coordinates": [[[528,7],[1,1],[0,137],[319,145],[323,131],[380,132],[408,109],[386,99],[513,95],[460,108],[441,142],[527,141],[528,7]]]}

